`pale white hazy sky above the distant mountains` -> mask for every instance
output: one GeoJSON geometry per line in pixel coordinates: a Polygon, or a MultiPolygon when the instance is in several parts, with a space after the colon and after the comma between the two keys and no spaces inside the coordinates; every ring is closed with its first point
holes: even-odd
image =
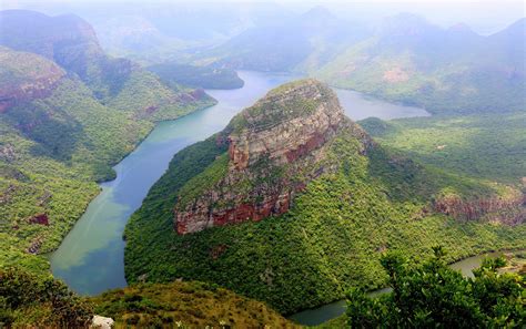
{"type": "MultiPolygon", "coordinates": [[[[503,29],[512,22],[526,17],[525,3],[516,0],[341,0],[341,1],[310,1],[310,0],[0,0],[0,8],[26,8],[36,10],[45,10],[47,6],[54,7],[57,11],[58,3],[64,3],[64,10],[70,10],[79,4],[93,3],[122,3],[124,6],[141,6],[151,2],[169,3],[221,3],[221,2],[275,2],[289,10],[306,11],[311,7],[321,4],[330,9],[334,14],[342,18],[355,20],[376,20],[398,12],[413,12],[424,16],[429,21],[448,27],[458,22],[471,25],[475,31],[488,34],[503,29]]],[[[80,16],[82,13],[75,12],[80,16]]]]}

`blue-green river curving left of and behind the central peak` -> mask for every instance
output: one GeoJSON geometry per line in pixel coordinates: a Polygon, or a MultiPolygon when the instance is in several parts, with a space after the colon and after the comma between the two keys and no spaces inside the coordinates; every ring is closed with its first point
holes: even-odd
{"type": "MultiPolygon", "coordinates": [[[[117,178],[101,184],[102,192],[50,256],[51,269],[74,291],[97,295],[125,287],[124,241],[128,218],[136,210],[150,187],[166,171],[181,148],[221,131],[243,107],[269,90],[295,76],[239,72],[245,82],[237,90],[208,90],[219,101],[175,121],[162,122],[124,160],[114,166],[117,178]]],[[[335,89],[346,114],[354,120],[428,115],[422,109],[390,104],[360,93],[335,89]]]]}

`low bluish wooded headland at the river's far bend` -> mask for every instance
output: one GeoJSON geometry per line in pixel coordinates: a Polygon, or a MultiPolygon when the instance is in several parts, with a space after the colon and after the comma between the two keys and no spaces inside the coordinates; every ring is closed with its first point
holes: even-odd
{"type": "Polygon", "coordinates": [[[170,86],[184,84],[204,89],[237,89],[244,82],[232,69],[219,69],[211,65],[194,66],[189,64],[162,63],[148,68],[149,71],[170,86]]]}

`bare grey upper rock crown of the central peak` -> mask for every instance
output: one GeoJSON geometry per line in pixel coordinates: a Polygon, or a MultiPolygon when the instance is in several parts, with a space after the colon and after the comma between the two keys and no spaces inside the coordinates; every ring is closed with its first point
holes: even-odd
{"type": "Polygon", "coordinates": [[[271,91],[232,122],[231,165],[246,168],[262,157],[283,165],[321,146],[334,135],[344,113],[336,96],[315,80],[271,91]]]}

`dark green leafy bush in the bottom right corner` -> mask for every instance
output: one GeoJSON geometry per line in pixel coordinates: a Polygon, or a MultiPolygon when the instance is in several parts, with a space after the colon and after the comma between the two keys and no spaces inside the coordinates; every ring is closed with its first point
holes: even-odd
{"type": "Polygon", "coordinates": [[[444,250],[422,264],[398,253],[381,258],[391,294],[370,298],[360,289],[347,296],[351,328],[523,328],[526,319],[525,277],[499,274],[504,258],[486,258],[464,278],[444,261],[444,250]],[[459,325],[462,323],[462,325],[459,325]]]}

